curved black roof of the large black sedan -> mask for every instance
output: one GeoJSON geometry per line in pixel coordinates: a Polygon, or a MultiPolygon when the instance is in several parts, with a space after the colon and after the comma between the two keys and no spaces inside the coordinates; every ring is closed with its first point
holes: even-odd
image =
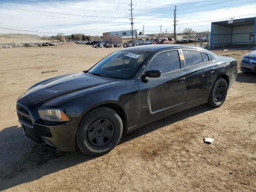
{"type": "Polygon", "coordinates": [[[133,46],[133,47],[120,49],[119,51],[160,52],[163,50],[180,49],[180,48],[202,50],[208,53],[210,52],[200,47],[189,46],[189,45],[179,45],[179,44],[141,45],[141,46],[133,46]]]}

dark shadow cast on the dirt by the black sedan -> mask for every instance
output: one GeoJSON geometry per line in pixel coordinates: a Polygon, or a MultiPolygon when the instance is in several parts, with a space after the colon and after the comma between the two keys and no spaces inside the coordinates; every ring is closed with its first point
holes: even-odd
{"type": "MultiPolygon", "coordinates": [[[[119,144],[209,110],[212,108],[200,105],[165,117],[124,134],[119,144]]],[[[86,156],[79,150],[54,152],[42,148],[23,136],[20,126],[4,128],[0,132],[0,149],[0,191],[97,158],[86,156]]]]}

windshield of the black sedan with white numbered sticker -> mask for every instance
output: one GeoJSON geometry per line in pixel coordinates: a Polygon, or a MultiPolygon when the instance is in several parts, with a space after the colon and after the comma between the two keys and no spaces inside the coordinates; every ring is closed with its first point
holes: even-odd
{"type": "Polygon", "coordinates": [[[114,79],[132,79],[149,55],[149,52],[116,51],[98,62],[89,73],[114,79]]]}

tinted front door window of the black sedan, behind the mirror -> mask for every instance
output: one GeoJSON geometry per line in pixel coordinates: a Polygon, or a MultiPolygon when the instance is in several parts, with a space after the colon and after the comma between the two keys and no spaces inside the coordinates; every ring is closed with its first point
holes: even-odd
{"type": "Polygon", "coordinates": [[[152,69],[160,70],[162,74],[180,69],[178,51],[168,51],[158,54],[147,67],[147,70],[152,69]]]}

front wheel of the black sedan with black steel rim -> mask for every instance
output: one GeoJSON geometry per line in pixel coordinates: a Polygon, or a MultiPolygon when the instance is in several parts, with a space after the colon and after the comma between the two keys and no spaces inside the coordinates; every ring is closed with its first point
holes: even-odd
{"type": "Polygon", "coordinates": [[[108,107],[98,107],[82,118],[76,132],[76,144],[85,154],[103,155],[118,144],[122,132],[120,116],[108,107]]]}

